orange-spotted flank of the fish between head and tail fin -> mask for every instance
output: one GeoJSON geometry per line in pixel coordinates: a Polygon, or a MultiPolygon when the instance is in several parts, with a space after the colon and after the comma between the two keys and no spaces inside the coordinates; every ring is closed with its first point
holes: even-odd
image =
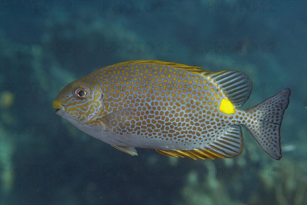
{"type": "Polygon", "coordinates": [[[226,115],[218,109],[226,98],[205,74],[168,65],[128,64],[105,67],[87,76],[86,83],[103,94],[102,115],[133,110],[115,119],[121,129],[146,139],[171,141],[186,149],[215,141],[231,124],[244,124],[249,114],[226,115]]]}

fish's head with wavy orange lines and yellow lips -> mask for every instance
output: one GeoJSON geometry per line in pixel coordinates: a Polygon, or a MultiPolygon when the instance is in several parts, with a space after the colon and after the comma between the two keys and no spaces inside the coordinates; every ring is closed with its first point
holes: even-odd
{"type": "Polygon", "coordinates": [[[65,86],[52,102],[57,115],[77,124],[92,121],[103,111],[102,92],[86,76],[65,86]]]}

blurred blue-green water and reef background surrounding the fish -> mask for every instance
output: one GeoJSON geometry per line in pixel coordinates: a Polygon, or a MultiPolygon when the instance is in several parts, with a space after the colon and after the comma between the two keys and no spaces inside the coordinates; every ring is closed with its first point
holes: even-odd
{"type": "Polygon", "coordinates": [[[0,15],[1,204],[307,203],[305,1],[2,1],[0,15]],[[136,59],[242,71],[244,108],[289,87],[281,160],[246,130],[233,159],[130,156],[55,114],[65,84],[136,59]]]}

